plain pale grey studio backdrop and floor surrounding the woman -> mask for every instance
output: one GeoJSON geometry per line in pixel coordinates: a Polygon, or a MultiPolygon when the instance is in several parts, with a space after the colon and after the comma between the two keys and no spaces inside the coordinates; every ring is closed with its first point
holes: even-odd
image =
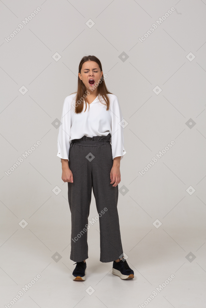
{"type": "MultiPolygon", "coordinates": [[[[174,274],[148,306],[204,307],[206,2],[1,1],[0,9],[1,306],[40,274],[15,307],[137,307],[174,274]],[[7,43],[4,38],[37,7],[7,43]],[[171,7],[175,11],[158,25],[171,7]],[[141,43],[153,23],[157,29],[141,43]],[[123,250],[135,274],[129,281],[111,274],[112,263],[99,261],[99,222],[88,230],[86,281],[72,281],[57,135],[84,55],[100,59],[125,120],[118,211],[123,250]],[[41,144],[7,176],[37,140],[41,144]]],[[[96,215],[92,196],[89,218],[96,215]]]]}

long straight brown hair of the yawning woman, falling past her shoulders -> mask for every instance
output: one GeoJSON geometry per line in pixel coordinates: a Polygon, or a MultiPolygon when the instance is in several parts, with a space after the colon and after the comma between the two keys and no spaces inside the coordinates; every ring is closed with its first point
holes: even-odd
{"type": "MultiPolygon", "coordinates": [[[[99,59],[95,56],[84,56],[80,63],[79,63],[79,73],[81,73],[81,69],[82,69],[82,64],[86,61],[95,61],[98,65],[99,65],[99,68],[100,68],[100,72],[102,72],[102,64],[101,62],[99,61],[99,59]]],[[[77,88],[77,91],[76,92],[73,92],[71,94],[74,94],[74,93],[77,93],[76,95],[76,100],[75,100],[75,103],[74,103],[74,106],[75,106],[75,112],[76,113],[81,113],[82,110],[83,110],[83,106],[84,106],[84,100],[85,100],[85,103],[88,103],[88,100],[87,100],[87,90],[86,90],[86,87],[84,85],[84,83],[82,82],[82,80],[79,78],[78,76],[78,88],[77,88]]],[[[97,86],[97,95],[99,95],[99,99],[101,101],[101,96],[103,97],[105,103],[102,103],[107,106],[107,109],[106,110],[109,110],[109,97],[107,94],[112,94],[111,92],[108,91],[107,87],[106,87],[106,84],[104,82],[104,75],[102,75],[101,77],[101,80],[97,86]]],[[[86,104],[86,107],[87,107],[87,104],[86,104]]],[[[89,108],[89,107],[88,107],[89,108]]],[[[85,111],[86,111],[86,108],[85,108],[85,111]]],[[[84,111],[84,112],[85,112],[84,111]]]]}

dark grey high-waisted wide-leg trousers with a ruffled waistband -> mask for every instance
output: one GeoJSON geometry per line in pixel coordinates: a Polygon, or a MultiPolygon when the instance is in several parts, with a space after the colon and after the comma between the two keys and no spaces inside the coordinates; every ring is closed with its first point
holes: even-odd
{"type": "MultiPolygon", "coordinates": [[[[117,212],[118,185],[110,184],[113,165],[110,138],[110,133],[107,136],[83,136],[70,144],[69,168],[74,182],[68,182],[68,201],[71,211],[70,259],[74,262],[88,258],[87,232],[98,220],[100,261],[111,262],[123,255],[117,212]],[[98,213],[88,222],[92,188],[98,213]]],[[[96,232],[95,226],[93,228],[96,232]]]]}

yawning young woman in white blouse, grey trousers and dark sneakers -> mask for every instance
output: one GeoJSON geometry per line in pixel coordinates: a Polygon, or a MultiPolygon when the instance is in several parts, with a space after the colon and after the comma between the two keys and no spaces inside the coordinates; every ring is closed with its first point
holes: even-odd
{"type": "Polygon", "coordinates": [[[92,188],[100,227],[100,261],[113,261],[112,274],[121,279],[134,278],[123,257],[117,212],[120,160],[126,154],[122,119],[118,98],[107,90],[99,59],[84,56],[79,63],[78,90],[64,100],[57,140],[61,178],[68,182],[70,259],[76,262],[73,280],[85,280],[92,188]]]}

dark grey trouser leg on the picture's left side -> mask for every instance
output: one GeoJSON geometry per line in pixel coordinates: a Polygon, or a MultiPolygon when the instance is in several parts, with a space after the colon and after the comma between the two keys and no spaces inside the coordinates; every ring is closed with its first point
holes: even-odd
{"type": "Polygon", "coordinates": [[[87,228],[91,202],[91,169],[82,146],[73,144],[69,155],[69,168],[74,182],[68,182],[68,201],[71,211],[70,259],[81,262],[88,258],[87,228]]]}

